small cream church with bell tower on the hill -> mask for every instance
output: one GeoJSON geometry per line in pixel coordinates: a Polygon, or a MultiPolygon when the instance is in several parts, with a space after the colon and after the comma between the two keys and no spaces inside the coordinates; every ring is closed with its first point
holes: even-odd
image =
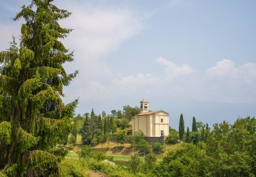
{"type": "Polygon", "coordinates": [[[150,102],[141,100],[141,113],[132,117],[132,134],[143,131],[145,137],[166,137],[169,135],[169,114],[165,111],[150,111],[150,102]]]}

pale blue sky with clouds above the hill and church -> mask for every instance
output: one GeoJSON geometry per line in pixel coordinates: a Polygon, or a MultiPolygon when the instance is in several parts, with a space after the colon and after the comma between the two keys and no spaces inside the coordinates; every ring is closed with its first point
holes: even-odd
{"type": "MultiPolygon", "coordinates": [[[[29,1],[0,2],[0,50],[20,22],[12,17],[29,1]]],[[[150,100],[152,110],[204,123],[256,115],[256,1],[55,1],[72,12],[61,21],[74,31],[68,71],[80,70],[66,103],[98,114],[150,100]]]]}

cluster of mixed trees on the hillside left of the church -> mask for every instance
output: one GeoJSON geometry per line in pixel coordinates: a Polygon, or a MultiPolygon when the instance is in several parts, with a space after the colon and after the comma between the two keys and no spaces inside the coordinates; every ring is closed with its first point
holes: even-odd
{"type": "MultiPolygon", "coordinates": [[[[70,138],[67,137],[63,144],[76,144],[77,134],[81,134],[83,144],[96,146],[107,141],[120,142],[124,144],[127,129],[132,127],[129,124],[131,118],[139,114],[138,107],[124,106],[123,110],[111,110],[111,114],[96,115],[94,109],[91,113],[80,114],[73,118],[73,129],[70,138]],[[117,129],[119,130],[117,132],[117,129]],[[122,131],[126,129],[126,131],[122,131]]],[[[131,133],[131,132],[130,132],[131,133]]]]}

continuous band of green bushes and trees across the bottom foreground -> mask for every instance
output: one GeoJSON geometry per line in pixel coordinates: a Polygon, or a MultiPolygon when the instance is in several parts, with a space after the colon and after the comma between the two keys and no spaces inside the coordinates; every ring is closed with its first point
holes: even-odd
{"type": "MultiPolygon", "coordinates": [[[[195,125],[201,123],[194,122],[195,125]]],[[[193,129],[199,132],[200,126],[193,129]]],[[[206,129],[206,127],[205,127],[206,129]]],[[[108,176],[255,176],[256,175],[256,119],[238,118],[235,123],[216,123],[204,140],[194,144],[184,142],[182,147],[169,152],[162,161],[148,153],[145,158],[136,155],[125,164],[111,162],[102,152],[91,152],[83,146],[80,161],[70,161],[61,168],[68,174],[81,175],[86,168],[108,176]],[[79,168],[77,168],[79,166],[79,168]]],[[[192,132],[193,132],[192,131],[192,132]]],[[[202,132],[202,131],[201,131],[202,132]]],[[[176,131],[178,138],[179,133],[176,131]]],[[[186,139],[186,133],[184,133],[186,139]]]]}

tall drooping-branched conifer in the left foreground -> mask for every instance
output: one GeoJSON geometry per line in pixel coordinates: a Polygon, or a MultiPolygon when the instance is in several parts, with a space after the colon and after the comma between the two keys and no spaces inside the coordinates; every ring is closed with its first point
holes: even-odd
{"type": "Polygon", "coordinates": [[[0,171],[8,176],[58,176],[59,155],[68,152],[56,144],[70,132],[78,101],[64,105],[61,96],[78,72],[63,68],[73,53],[61,41],[72,30],[58,20],[70,12],[52,1],[23,5],[14,18],[25,19],[20,44],[0,52],[0,171]]]}

